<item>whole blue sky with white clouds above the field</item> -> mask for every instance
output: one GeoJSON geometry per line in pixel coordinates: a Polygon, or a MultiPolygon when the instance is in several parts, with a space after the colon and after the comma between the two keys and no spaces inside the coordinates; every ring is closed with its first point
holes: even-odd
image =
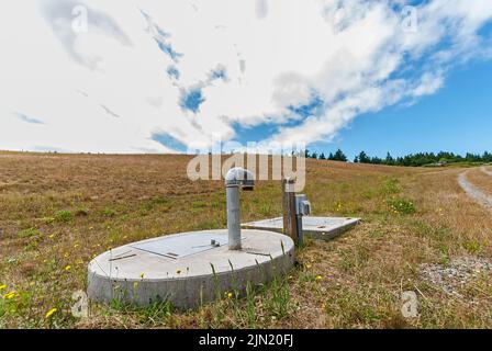
{"type": "Polygon", "coordinates": [[[492,149],[490,0],[1,7],[0,149],[492,149]]]}

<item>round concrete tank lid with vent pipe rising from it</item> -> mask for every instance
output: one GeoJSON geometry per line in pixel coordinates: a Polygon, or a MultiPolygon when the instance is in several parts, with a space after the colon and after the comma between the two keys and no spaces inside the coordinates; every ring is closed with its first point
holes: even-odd
{"type": "Polygon", "coordinates": [[[246,283],[265,283],[294,261],[291,238],[266,230],[242,230],[243,249],[227,248],[227,230],[191,231],[128,244],[94,258],[88,295],[147,305],[169,301],[194,308],[246,283]]]}

